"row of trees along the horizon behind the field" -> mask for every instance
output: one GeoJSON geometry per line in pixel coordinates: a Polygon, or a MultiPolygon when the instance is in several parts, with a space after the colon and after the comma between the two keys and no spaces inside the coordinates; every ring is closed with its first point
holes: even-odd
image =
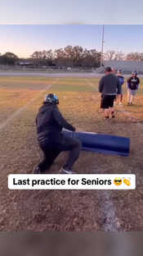
{"type": "MultiPolygon", "coordinates": [[[[104,60],[143,61],[143,53],[127,53],[109,50],[103,54],[104,60]]],[[[29,58],[20,58],[15,53],[0,53],[0,64],[16,65],[18,62],[31,62],[33,66],[83,66],[98,67],[101,63],[101,52],[88,50],[81,46],[66,46],[54,51],[36,51],[29,58]]]]}

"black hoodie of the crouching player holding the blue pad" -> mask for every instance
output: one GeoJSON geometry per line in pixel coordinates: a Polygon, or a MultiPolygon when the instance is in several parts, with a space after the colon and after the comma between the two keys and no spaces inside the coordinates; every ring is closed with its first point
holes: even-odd
{"type": "Polygon", "coordinates": [[[39,108],[36,125],[38,138],[51,133],[60,133],[63,127],[75,131],[74,126],[71,126],[61,115],[59,109],[51,103],[43,103],[39,108]]]}

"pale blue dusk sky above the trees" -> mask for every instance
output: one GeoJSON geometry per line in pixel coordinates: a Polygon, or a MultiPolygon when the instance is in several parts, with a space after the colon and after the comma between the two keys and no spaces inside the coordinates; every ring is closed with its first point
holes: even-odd
{"type": "MultiPolygon", "coordinates": [[[[103,25],[0,25],[0,53],[29,57],[35,51],[80,45],[101,51],[103,25]]],[[[143,25],[105,25],[104,52],[143,52],[143,25]]]]}

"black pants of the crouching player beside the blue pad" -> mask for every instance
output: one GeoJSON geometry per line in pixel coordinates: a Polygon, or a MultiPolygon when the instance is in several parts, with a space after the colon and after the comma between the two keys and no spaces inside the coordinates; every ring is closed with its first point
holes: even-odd
{"type": "Polygon", "coordinates": [[[72,168],[82,148],[80,141],[63,134],[49,135],[45,139],[38,140],[38,144],[44,154],[42,162],[38,165],[41,172],[49,169],[57,156],[63,151],[69,151],[69,157],[63,167],[72,168]]]}

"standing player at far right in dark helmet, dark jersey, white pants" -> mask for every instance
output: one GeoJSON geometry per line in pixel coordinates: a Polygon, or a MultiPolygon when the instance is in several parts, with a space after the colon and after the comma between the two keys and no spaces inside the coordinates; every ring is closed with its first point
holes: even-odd
{"type": "Polygon", "coordinates": [[[132,105],[133,97],[139,89],[140,79],[137,77],[137,71],[132,71],[132,76],[127,79],[127,106],[132,105]]]}

